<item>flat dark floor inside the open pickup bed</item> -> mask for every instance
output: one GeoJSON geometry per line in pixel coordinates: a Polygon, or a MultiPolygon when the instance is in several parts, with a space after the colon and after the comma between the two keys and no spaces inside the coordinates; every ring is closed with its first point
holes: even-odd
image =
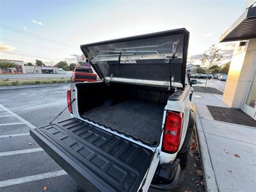
{"type": "Polygon", "coordinates": [[[163,112],[164,105],[143,100],[129,99],[114,105],[106,100],[102,106],[83,113],[83,117],[156,145],[161,136],[163,112]]]}

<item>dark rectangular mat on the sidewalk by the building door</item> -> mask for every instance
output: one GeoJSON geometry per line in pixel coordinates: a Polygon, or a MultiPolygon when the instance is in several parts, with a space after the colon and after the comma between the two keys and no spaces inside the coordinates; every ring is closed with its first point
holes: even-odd
{"type": "Polygon", "coordinates": [[[244,113],[241,109],[221,108],[216,106],[207,106],[207,108],[216,121],[256,127],[256,120],[244,113]]]}

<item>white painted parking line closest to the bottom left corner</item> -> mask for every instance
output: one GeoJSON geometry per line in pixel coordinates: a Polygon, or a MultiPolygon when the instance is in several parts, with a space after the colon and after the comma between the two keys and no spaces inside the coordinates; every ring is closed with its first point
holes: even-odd
{"type": "Polygon", "coordinates": [[[67,175],[67,173],[64,170],[60,170],[60,171],[56,171],[56,172],[48,172],[48,173],[42,173],[42,174],[38,174],[38,175],[19,177],[16,179],[1,180],[0,188],[6,187],[6,186],[12,186],[12,185],[16,185],[16,184],[22,184],[24,182],[31,182],[31,181],[47,179],[47,178],[51,178],[51,177],[58,177],[61,175],[67,175]]]}

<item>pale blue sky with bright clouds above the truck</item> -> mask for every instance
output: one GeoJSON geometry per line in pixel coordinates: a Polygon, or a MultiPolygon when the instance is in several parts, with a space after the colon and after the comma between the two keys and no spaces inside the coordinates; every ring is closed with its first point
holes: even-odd
{"type": "Polygon", "coordinates": [[[245,10],[245,1],[3,1],[0,58],[47,65],[76,60],[81,44],[186,28],[189,62],[217,44],[230,60],[234,43],[218,40],[245,10]]]}

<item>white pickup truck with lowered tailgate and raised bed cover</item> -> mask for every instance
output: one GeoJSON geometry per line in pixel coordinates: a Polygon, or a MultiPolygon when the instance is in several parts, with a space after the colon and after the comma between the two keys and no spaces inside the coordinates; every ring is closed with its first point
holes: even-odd
{"type": "Polygon", "coordinates": [[[100,81],[70,83],[72,118],[31,136],[88,191],[175,188],[195,125],[188,42],[175,29],[81,45],[100,81]]]}

